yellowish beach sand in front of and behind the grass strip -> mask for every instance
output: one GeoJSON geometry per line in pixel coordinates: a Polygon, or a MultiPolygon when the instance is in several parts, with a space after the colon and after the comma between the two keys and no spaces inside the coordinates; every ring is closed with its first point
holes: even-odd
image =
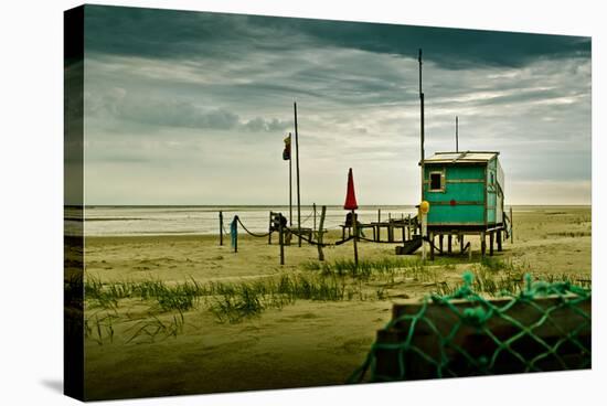
{"type": "MultiPolygon", "coordinates": [[[[518,271],[589,280],[590,235],[589,207],[517,207],[514,244],[504,242],[503,252],[496,252],[494,257],[518,271]]],[[[337,234],[326,237],[336,239],[337,234]]],[[[394,302],[422,298],[438,284],[458,284],[465,270],[479,267],[479,241],[471,241],[471,261],[459,255],[454,244],[451,256],[437,256],[424,268],[432,274],[429,278],[371,279],[364,282],[362,297],[298,299],[234,323],[220,322],[209,310],[213,298],[181,314],[141,298],[119,299],[109,308],[87,299],[86,398],[343,384],[363,363],[376,330],[388,322],[394,302]],[[142,325],[177,325],[181,316],[183,325],[177,334],[136,334],[142,325]]],[[[394,246],[361,242],[359,257],[396,258],[394,246]]],[[[318,263],[315,246],[302,243],[298,247],[294,238],[285,255],[286,265],[280,266],[276,236],[268,245],[267,237],[243,232],[238,253],[233,252],[228,238],[220,246],[219,236],[86,237],[85,280],[107,286],[149,280],[239,284],[318,273],[305,266],[318,263]]],[[[328,263],[351,259],[352,244],[326,248],[324,256],[328,263]]],[[[419,258],[419,253],[411,258],[419,258]]]]}

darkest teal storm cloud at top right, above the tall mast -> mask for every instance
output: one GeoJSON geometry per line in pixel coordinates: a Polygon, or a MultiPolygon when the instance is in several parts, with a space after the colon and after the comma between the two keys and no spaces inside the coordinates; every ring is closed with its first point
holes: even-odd
{"type": "Polygon", "coordinates": [[[297,25],[321,42],[343,47],[409,57],[417,57],[417,50],[423,49],[427,54],[425,60],[454,70],[520,67],[539,58],[588,56],[590,53],[590,40],[578,36],[322,20],[301,21],[297,25]]]}

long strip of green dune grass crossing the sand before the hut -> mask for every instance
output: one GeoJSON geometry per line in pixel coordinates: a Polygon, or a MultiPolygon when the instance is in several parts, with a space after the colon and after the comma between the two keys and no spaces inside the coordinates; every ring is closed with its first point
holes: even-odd
{"type": "MultiPolygon", "coordinates": [[[[162,280],[103,282],[86,276],[84,292],[88,309],[102,309],[106,314],[93,313],[86,320],[87,338],[103,344],[114,338],[114,320],[121,299],[140,299],[151,303],[146,319],[132,327],[130,341],[177,336],[184,327],[184,313],[203,309],[217,322],[235,323],[260,316],[267,309],[280,309],[297,300],[344,301],[387,300],[390,290],[402,282],[428,286],[428,293],[451,295],[461,284],[449,284],[438,278],[440,271],[454,271],[456,264],[426,266],[417,259],[381,258],[361,260],[308,261],[301,271],[260,277],[255,280],[209,281],[194,279],[182,282],[162,280]],[[172,317],[172,318],[171,318],[172,317]]],[[[524,287],[523,275],[529,266],[513,265],[499,257],[481,258],[471,266],[472,288],[488,296],[515,293],[524,287]]],[[[589,277],[575,275],[535,275],[549,282],[561,280],[589,286],[589,277]]],[[[401,288],[402,289],[402,288],[401,288]]],[[[398,291],[397,291],[398,292],[398,291]]]]}

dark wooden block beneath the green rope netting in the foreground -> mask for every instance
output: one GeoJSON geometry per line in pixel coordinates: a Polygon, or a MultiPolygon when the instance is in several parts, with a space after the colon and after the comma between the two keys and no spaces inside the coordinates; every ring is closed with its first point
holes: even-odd
{"type": "MultiPolygon", "coordinates": [[[[382,344],[405,342],[412,328],[411,320],[401,320],[391,329],[377,331],[376,376],[380,380],[437,377],[436,365],[420,356],[417,351],[437,362],[446,360],[441,371],[445,377],[589,368],[592,299],[583,300],[572,308],[567,300],[574,298],[576,297],[573,295],[553,296],[533,301],[519,300],[513,306],[510,306],[511,298],[490,300],[492,306],[502,309],[502,313],[493,313],[483,325],[475,323],[473,319],[462,322],[460,314],[466,309],[478,312],[482,308],[487,311],[486,304],[454,300],[454,312],[444,303],[429,303],[423,320],[414,325],[409,349],[414,348],[416,351],[400,352],[396,348],[382,348],[382,344]],[[546,314],[549,319],[543,320],[546,314]],[[432,324],[424,320],[432,321],[432,324]],[[529,329],[533,336],[523,334],[508,346],[500,348],[486,333],[490,331],[493,338],[503,343],[521,333],[518,323],[529,329]],[[457,328],[457,324],[460,325],[457,328]],[[566,340],[574,332],[581,345],[566,340]],[[448,345],[444,345],[441,341],[446,336],[449,336],[448,345]],[[547,344],[549,349],[542,343],[547,344]],[[556,356],[550,350],[554,350],[556,356]],[[403,357],[402,363],[400,356],[403,357]]],[[[422,306],[411,301],[394,304],[393,320],[418,314],[422,306]]]]}

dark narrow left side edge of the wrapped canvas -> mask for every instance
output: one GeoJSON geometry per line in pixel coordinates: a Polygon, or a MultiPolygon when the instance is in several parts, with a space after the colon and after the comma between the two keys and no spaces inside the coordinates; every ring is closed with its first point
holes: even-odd
{"type": "Polygon", "coordinates": [[[64,13],[64,338],[67,396],[84,399],[84,7],[64,13]]]}

